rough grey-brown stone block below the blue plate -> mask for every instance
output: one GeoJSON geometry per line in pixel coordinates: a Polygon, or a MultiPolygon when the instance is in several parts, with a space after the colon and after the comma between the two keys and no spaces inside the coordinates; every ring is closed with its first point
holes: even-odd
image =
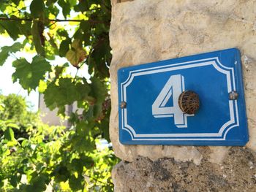
{"type": "MultiPolygon", "coordinates": [[[[201,149],[203,149],[201,147],[201,149]]],[[[204,147],[204,150],[208,150],[204,147]]],[[[121,161],[112,172],[115,191],[256,191],[256,154],[231,147],[222,165],[204,155],[200,166],[173,158],[138,157],[132,163],[121,161]]]]}

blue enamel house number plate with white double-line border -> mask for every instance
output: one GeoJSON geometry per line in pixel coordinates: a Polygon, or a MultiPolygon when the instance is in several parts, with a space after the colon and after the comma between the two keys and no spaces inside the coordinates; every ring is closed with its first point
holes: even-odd
{"type": "Polygon", "coordinates": [[[119,139],[124,145],[248,141],[236,48],[119,69],[118,102],[119,139]],[[197,112],[188,112],[193,107],[197,112]]]}

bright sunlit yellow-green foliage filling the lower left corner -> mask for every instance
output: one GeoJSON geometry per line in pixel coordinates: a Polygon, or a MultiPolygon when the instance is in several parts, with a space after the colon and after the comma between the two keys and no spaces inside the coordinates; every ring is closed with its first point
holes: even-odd
{"type": "MultiPolygon", "coordinates": [[[[4,99],[1,99],[1,112],[7,112],[4,99]]],[[[16,100],[24,101],[21,97],[16,100]]],[[[54,191],[113,191],[110,169],[118,160],[112,150],[83,145],[85,139],[78,136],[75,128],[67,130],[63,126],[45,125],[37,119],[33,121],[37,122],[34,126],[29,121],[23,124],[29,136],[23,138],[16,137],[20,126],[13,119],[0,120],[3,133],[0,137],[0,187],[4,191],[45,191],[47,185],[52,185],[54,191]],[[70,139],[75,139],[75,145],[70,139]]],[[[84,126],[81,121],[79,130],[86,131],[84,126]]],[[[83,133],[89,137],[86,134],[83,133]]]]}

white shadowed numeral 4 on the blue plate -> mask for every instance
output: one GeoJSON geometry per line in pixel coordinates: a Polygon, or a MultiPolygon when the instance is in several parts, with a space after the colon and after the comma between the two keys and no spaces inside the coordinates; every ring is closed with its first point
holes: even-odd
{"type": "Polygon", "coordinates": [[[178,96],[185,91],[184,77],[181,74],[170,76],[164,88],[152,104],[152,115],[154,118],[174,118],[174,124],[178,128],[187,128],[187,116],[178,107],[178,96]],[[165,107],[167,101],[173,96],[173,107],[165,107]]]}

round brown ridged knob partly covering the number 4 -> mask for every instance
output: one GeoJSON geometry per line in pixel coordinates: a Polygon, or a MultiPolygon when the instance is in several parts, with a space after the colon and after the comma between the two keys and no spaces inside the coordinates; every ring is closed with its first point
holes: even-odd
{"type": "Polygon", "coordinates": [[[200,107],[199,96],[194,91],[183,91],[178,97],[178,106],[182,112],[195,114],[200,107]]]}

